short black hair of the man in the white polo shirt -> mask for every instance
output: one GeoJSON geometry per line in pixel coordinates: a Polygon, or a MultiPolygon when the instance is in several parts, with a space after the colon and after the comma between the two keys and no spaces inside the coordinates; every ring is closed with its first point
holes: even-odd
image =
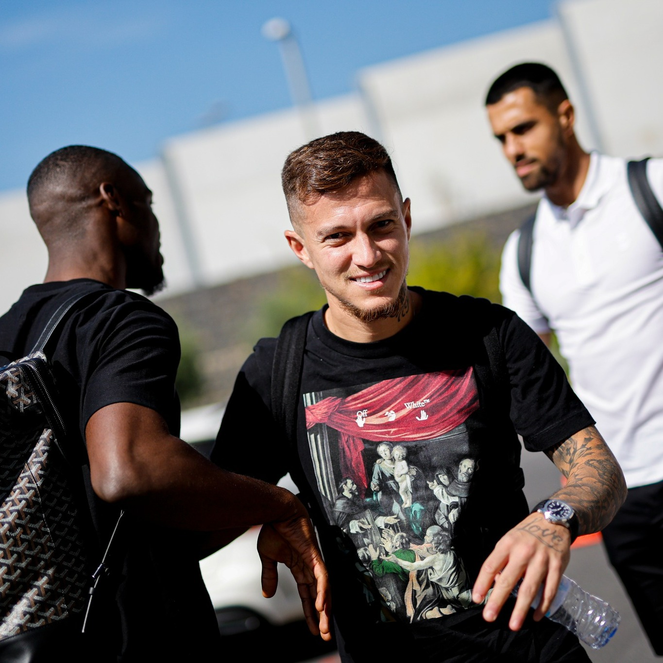
{"type": "Polygon", "coordinates": [[[497,103],[504,95],[520,88],[530,88],[536,99],[551,112],[569,98],[560,77],[549,66],[540,62],[523,62],[495,79],[486,95],[485,105],[497,103]]]}

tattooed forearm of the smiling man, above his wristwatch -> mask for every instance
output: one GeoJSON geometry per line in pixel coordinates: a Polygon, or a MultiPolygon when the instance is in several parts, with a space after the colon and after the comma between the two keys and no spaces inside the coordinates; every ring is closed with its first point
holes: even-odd
{"type": "Polygon", "coordinates": [[[626,499],[621,468],[594,426],[546,450],[566,477],[554,497],[568,502],[580,520],[580,533],[605,527],[626,499]]]}

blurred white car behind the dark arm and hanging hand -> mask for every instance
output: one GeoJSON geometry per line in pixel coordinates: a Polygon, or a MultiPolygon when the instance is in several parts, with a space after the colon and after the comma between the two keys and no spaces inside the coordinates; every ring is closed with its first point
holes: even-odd
{"type": "MultiPolygon", "coordinates": [[[[182,440],[209,456],[221,416],[223,408],[219,404],[185,410],[180,428],[182,440]]],[[[278,485],[298,492],[289,476],[278,485]]],[[[257,650],[269,646],[266,651],[272,652],[282,638],[286,644],[284,660],[291,662],[333,651],[333,646],[308,632],[297,585],[286,566],[279,564],[276,594],[271,599],[263,597],[261,564],[256,550],[259,532],[260,527],[251,528],[200,562],[221,634],[245,640],[243,647],[257,650]],[[267,637],[256,637],[261,634],[267,637]]]]}

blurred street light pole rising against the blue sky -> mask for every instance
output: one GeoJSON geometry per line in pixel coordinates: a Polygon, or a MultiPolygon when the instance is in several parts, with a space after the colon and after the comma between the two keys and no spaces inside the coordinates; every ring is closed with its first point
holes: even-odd
{"type": "Polygon", "coordinates": [[[290,23],[285,19],[270,19],[263,25],[262,32],[265,38],[278,44],[288,80],[290,97],[293,105],[299,109],[304,137],[307,141],[317,138],[320,136],[320,127],[311,99],[311,88],[308,76],[306,76],[304,58],[302,58],[302,52],[290,23]]]}

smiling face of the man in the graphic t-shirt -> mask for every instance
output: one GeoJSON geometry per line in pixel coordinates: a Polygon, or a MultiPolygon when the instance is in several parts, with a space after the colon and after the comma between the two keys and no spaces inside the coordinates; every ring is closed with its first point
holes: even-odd
{"type": "Polygon", "coordinates": [[[295,213],[286,237],[326,290],[328,318],[394,317],[406,294],[411,222],[410,201],[391,178],[382,170],[356,178],[295,213]]]}

